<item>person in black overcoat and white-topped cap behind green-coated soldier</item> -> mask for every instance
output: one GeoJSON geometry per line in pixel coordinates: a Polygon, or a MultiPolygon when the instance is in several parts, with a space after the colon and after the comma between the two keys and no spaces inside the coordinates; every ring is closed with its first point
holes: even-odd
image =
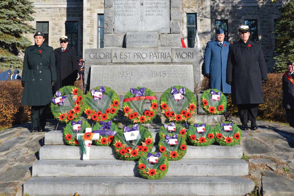
{"type": "Polygon", "coordinates": [[[57,73],[56,90],[64,86],[74,85],[78,76],[76,51],[74,48],[67,46],[69,44],[67,36],[62,36],[59,41],[61,47],[54,50],[57,73]]]}

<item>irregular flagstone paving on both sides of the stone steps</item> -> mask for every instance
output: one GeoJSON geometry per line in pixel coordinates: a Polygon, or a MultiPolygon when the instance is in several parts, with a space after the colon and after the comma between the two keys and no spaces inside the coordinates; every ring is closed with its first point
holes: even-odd
{"type": "MultiPolygon", "coordinates": [[[[242,132],[243,157],[250,169],[246,177],[255,180],[264,196],[293,196],[294,129],[280,123],[257,123],[258,130],[242,132]]],[[[46,131],[54,130],[56,124],[49,121],[46,131]]],[[[28,128],[30,123],[0,131],[0,196],[22,195],[22,185],[31,177],[44,133],[30,133],[28,128]]]]}

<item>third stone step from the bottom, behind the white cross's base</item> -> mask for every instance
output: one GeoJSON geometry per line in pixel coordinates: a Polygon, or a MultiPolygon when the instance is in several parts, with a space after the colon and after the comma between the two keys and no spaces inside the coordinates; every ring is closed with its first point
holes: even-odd
{"type": "MultiPolygon", "coordinates": [[[[46,137],[45,137],[46,138],[46,137]]],[[[155,145],[157,147],[157,145],[155,145]]],[[[158,151],[157,148],[153,151],[158,151]]],[[[184,159],[240,159],[243,150],[240,145],[236,146],[187,146],[184,159]]],[[[67,145],[44,145],[39,150],[40,159],[80,159],[79,146],[67,145]]],[[[112,147],[91,146],[90,159],[118,159],[112,147]]]]}

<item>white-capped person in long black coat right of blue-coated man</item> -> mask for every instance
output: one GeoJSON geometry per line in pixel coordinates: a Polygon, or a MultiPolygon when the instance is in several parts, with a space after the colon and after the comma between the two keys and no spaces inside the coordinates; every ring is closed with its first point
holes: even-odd
{"type": "Polygon", "coordinates": [[[268,80],[261,45],[249,40],[248,26],[239,27],[240,40],[230,44],[226,82],[232,88],[232,103],[238,105],[242,130],[256,130],[258,104],[263,102],[262,84],[268,80]]]}

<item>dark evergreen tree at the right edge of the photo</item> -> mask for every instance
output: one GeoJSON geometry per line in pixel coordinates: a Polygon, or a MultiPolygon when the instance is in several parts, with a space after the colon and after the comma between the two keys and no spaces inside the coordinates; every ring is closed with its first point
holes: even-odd
{"type": "Polygon", "coordinates": [[[274,69],[281,73],[286,70],[286,63],[294,61],[294,0],[280,8],[281,17],[277,24],[275,33],[274,69]]]}

